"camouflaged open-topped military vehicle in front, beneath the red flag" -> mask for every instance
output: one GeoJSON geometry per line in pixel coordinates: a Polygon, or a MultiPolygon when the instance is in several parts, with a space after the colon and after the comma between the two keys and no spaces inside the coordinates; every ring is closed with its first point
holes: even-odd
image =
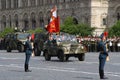
{"type": "Polygon", "coordinates": [[[67,61],[69,57],[76,57],[79,61],[85,60],[86,48],[77,42],[75,36],[59,35],[52,37],[52,40],[47,40],[44,43],[45,60],[49,61],[51,57],[58,57],[60,61],[67,61]]]}

